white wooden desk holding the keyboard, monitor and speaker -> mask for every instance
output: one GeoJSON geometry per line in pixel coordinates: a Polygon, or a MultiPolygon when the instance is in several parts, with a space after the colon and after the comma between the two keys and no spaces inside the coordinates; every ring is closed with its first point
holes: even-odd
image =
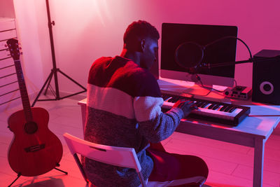
{"type": "MultiPolygon", "coordinates": [[[[180,90],[181,82],[170,85],[166,81],[159,81],[162,90],[180,90]]],[[[185,86],[184,86],[185,87],[185,86]]],[[[185,88],[183,88],[185,89],[185,88]]],[[[220,102],[231,102],[232,104],[240,104],[241,101],[226,99],[223,95],[211,92],[208,95],[210,100],[220,102]]],[[[204,98],[205,99],[205,98],[204,98]]],[[[265,153],[265,141],[272,134],[275,127],[280,122],[280,106],[270,106],[264,104],[255,104],[251,102],[243,102],[246,106],[251,107],[251,116],[247,117],[237,127],[221,125],[217,123],[209,123],[202,120],[181,120],[176,132],[191,134],[209,139],[230,142],[242,146],[253,147],[254,165],[253,165],[253,186],[262,186],[262,170],[265,153]],[[267,116],[263,116],[267,115],[267,116]],[[276,116],[278,115],[278,116],[276,116]]],[[[78,102],[81,106],[83,125],[85,125],[85,107],[86,99],[78,102]]]]}

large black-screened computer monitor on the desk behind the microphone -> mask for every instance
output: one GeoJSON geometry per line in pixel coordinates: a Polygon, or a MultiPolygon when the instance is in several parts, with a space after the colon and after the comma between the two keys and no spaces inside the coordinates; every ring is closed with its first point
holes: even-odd
{"type": "MultiPolygon", "coordinates": [[[[160,76],[200,84],[195,75],[189,74],[188,69],[176,63],[176,48],[185,42],[195,42],[201,46],[206,46],[225,36],[237,37],[237,27],[162,23],[160,76]]],[[[236,48],[237,40],[235,38],[218,41],[205,48],[202,63],[235,62],[236,48]]],[[[235,65],[211,69],[200,68],[197,75],[200,76],[203,85],[232,87],[235,78],[235,65]]]]}

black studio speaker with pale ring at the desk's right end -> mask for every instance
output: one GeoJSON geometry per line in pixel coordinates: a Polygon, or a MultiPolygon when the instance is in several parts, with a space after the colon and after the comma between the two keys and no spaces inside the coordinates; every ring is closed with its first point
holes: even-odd
{"type": "Polygon", "coordinates": [[[252,101],[280,104],[280,50],[261,50],[253,58],[252,101]]]}

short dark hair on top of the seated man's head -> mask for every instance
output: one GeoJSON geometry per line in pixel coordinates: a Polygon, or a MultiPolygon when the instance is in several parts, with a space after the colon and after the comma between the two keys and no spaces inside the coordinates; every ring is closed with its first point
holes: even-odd
{"type": "Polygon", "coordinates": [[[132,22],[127,27],[123,36],[123,42],[128,44],[141,37],[150,37],[151,39],[158,40],[160,39],[160,34],[153,25],[144,20],[139,20],[132,22]]]}

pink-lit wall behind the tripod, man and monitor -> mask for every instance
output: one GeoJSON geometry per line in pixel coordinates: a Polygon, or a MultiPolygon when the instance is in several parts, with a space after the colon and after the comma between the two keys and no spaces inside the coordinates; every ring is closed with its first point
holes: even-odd
{"type": "MultiPolygon", "coordinates": [[[[27,76],[39,89],[52,67],[45,1],[25,0],[25,5],[20,1],[14,0],[14,3],[23,50],[32,50],[31,45],[40,50],[36,54],[40,57],[31,63],[41,63],[41,69],[38,65],[26,65],[30,69],[27,76]],[[36,73],[31,74],[34,71],[36,73]],[[37,73],[40,71],[43,74],[37,73]]],[[[56,22],[53,32],[57,67],[86,85],[92,61],[103,55],[118,55],[127,25],[139,19],[151,22],[160,32],[162,22],[237,25],[239,38],[248,44],[253,54],[262,49],[280,50],[279,7],[279,0],[50,0],[52,20],[56,22]]],[[[34,54],[27,51],[25,55],[25,59],[31,60],[34,54]]],[[[245,59],[248,59],[248,53],[239,43],[237,60],[245,59]]],[[[251,86],[251,76],[251,64],[237,65],[235,78],[239,85],[251,86]]],[[[59,81],[64,92],[78,90],[64,78],[59,81]]]]}

